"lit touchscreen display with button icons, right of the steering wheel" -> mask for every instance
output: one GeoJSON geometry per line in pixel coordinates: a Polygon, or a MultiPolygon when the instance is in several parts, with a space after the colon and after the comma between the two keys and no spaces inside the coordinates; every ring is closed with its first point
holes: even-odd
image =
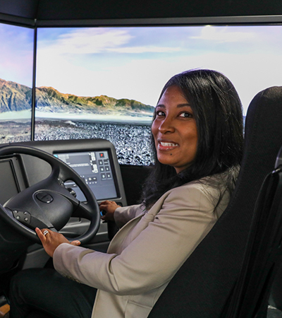
{"type": "MultiPolygon", "coordinates": [[[[85,179],[97,200],[117,197],[114,171],[108,151],[54,153],[54,156],[72,167],[80,177],[85,179]]],[[[76,192],[78,200],[85,201],[85,196],[73,181],[67,181],[65,184],[76,192]]]]}

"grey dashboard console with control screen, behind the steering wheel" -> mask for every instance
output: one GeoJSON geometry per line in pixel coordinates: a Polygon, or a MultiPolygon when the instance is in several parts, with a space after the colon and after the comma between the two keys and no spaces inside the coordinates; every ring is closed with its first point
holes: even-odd
{"type": "MultiPolygon", "coordinates": [[[[51,153],[73,168],[88,184],[98,201],[111,199],[126,205],[121,171],[116,158],[114,146],[104,139],[79,139],[60,141],[27,141],[15,143],[38,148],[51,153]]],[[[3,146],[7,146],[4,144],[3,146]]],[[[0,175],[5,184],[0,184],[0,203],[18,192],[30,187],[49,175],[51,167],[43,160],[30,155],[15,154],[0,158],[0,175]]],[[[77,189],[75,183],[65,183],[77,189]]],[[[82,192],[77,189],[77,198],[84,200],[82,192]]]]}

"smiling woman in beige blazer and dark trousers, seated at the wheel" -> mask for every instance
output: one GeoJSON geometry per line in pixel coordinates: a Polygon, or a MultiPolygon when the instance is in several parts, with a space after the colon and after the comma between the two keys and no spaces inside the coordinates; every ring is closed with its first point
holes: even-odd
{"type": "Polygon", "coordinates": [[[242,108],[232,83],[210,70],[173,76],[157,103],[152,137],[155,165],[142,204],[100,205],[102,218],[121,228],[108,252],[37,228],[56,271],[80,284],[54,271],[23,271],[11,284],[11,318],[27,317],[30,307],[54,317],[149,315],[228,205],[243,149],[242,108]]]}

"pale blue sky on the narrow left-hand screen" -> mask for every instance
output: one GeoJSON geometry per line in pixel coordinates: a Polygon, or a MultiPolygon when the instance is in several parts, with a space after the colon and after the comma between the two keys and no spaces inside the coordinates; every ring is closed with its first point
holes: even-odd
{"type": "Polygon", "coordinates": [[[32,86],[34,31],[0,23],[0,78],[32,86]]]}

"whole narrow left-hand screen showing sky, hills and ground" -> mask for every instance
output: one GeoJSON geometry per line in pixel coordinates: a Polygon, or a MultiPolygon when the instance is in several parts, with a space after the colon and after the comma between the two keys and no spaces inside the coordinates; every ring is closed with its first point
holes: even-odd
{"type": "Polygon", "coordinates": [[[0,23],[0,143],[30,141],[33,30],[0,23]]]}

